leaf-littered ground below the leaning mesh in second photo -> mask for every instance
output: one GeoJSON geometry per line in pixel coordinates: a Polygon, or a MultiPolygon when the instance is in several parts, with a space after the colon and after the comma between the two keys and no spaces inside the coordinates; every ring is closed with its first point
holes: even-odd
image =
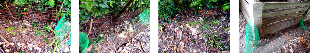
{"type": "MultiPolygon", "coordinates": [[[[96,24],[95,24],[96,25],[96,24]]],[[[100,43],[100,52],[114,53],[114,52],[150,52],[150,27],[147,26],[140,32],[132,41],[131,39],[146,25],[141,22],[129,22],[128,19],[123,23],[115,25],[108,30],[100,33],[90,34],[89,39],[96,37],[95,34],[104,36],[104,42],[100,43]],[[133,29],[133,32],[130,32],[133,29]],[[141,43],[141,47],[139,46],[141,43]],[[141,49],[140,49],[141,48],[141,49]]],[[[96,27],[94,27],[96,28],[96,27]]],[[[94,30],[97,31],[97,30],[94,30]]],[[[99,30],[98,30],[99,31],[99,30]]],[[[87,47],[86,52],[97,52],[98,44],[87,47]]]]}

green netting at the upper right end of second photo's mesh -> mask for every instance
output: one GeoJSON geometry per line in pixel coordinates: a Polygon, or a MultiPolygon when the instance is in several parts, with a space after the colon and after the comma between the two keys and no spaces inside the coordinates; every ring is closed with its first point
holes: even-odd
{"type": "Polygon", "coordinates": [[[145,9],[138,16],[143,25],[147,25],[148,23],[150,23],[150,9],[149,8],[145,9]]]}

